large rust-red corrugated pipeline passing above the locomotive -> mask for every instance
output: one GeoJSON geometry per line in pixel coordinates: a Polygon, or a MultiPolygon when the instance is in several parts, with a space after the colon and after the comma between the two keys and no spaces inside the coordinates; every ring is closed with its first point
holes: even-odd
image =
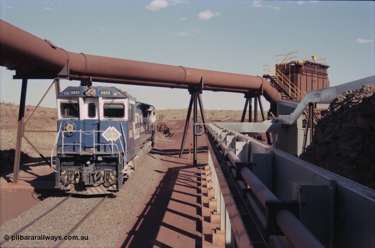
{"type": "Polygon", "coordinates": [[[141,81],[142,85],[169,88],[195,86],[203,77],[204,90],[226,89],[246,93],[258,91],[263,86],[264,97],[269,102],[281,99],[270,82],[259,76],[68,52],[3,20],[0,20],[0,30],[0,66],[12,70],[48,70],[57,74],[69,61],[69,75],[141,81]]]}

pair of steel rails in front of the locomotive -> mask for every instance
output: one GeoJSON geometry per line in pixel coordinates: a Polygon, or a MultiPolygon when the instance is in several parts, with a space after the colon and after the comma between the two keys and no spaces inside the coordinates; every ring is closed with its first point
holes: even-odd
{"type": "MultiPolygon", "coordinates": [[[[40,220],[40,218],[44,217],[45,215],[47,215],[49,212],[51,212],[52,210],[56,209],[58,206],[60,206],[63,202],[65,202],[66,200],[68,200],[69,198],[71,198],[72,194],[70,194],[69,196],[65,197],[62,201],[58,202],[56,205],[54,205],[52,208],[48,209],[47,211],[45,211],[43,214],[39,215],[38,217],[36,217],[34,220],[30,221],[29,223],[27,223],[25,226],[21,227],[19,230],[17,230],[16,232],[12,233],[12,235],[9,235],[8,236],[8,239],[4,239],[0,242],[0,246],[5,244],[7,241],[11,240],[13,236],[16,236],[18,235],[19,233],[21,233],[23,230],[27,229],[29,226],[31,226],[32,224],[34,224],[36,221],[40,220]]],[[[71,235],[82,223],[84,223],[84,221],[90,217],[90,215],[93,214],[93,212],[95,212],[96,209],[99,208],[100,205],[102,205],[102,203],[105,202],[105,200],[107,200],[108,197],[112,197],[112,194],[107,194],[105,197],[103,197],[103,199],[98,202],[95,207],[89,212],[87,213],[83,218],[82,220],[80,220],[80,222],[78,222],[68,233],[66,233],[66,235],[64,237],[68,237],[69,235],[71,235]]],[[[60,245],[63,244],[63,242],[65,242],[66,239],[62,238],[60,239],[60,241],[55,244],[53,247],[60,247],[60,245]]]]}

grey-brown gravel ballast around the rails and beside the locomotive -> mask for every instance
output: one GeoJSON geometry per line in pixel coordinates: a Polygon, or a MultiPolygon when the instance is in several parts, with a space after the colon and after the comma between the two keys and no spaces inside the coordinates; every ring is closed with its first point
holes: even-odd
{"type": "MultiPolygon", "coordinates": [[[[140,164],[125,183],[124,189],[108,198],[87,220],[72,233],[72,236],[87,240],[67,240],[61,247],[114,247],[117,240],[132,229],[136,213],[147,202],[145,197],[154,191],[162,179],[164,170],[161,159],[163,156],[152,151],[140,164]]],[[[68,194],[57,194],[49,197],[38,205],[28,209],[18,217],[0,226],[0,240],[4,235],[11,235],[34,218],[43,214],[68,194]]],[[[103,196],[72,196],[45,217],[22,231],[22,236],[65,236],[103,196]]],[[[8,241],[2,247],[53,247],[57,241],[21,240],[8,241]]],[[[117,244],[118,245],[118,244],[117,244]]]]}

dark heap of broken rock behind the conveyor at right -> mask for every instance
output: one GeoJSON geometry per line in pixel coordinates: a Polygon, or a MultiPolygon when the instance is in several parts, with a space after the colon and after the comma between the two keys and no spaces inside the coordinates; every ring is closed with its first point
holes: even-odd
{"type": "Polygon", "coordinates": [[[337,96],[300,158],[375,189],[375,86],[337,96]]]}

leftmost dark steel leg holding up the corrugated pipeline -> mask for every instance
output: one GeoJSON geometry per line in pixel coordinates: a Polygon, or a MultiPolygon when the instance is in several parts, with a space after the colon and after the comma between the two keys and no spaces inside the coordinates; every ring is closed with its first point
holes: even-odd
{"type": "Polygon", "coordinates": [[[25,117],[26,91],[27,91],[27,78],[22,79],[20,110],[18,112],[16,151],[14,155],[13,184],[18,183],[18,171],[20,170],[21,144],[22,144],[22,136],[24,134],[23,122],[24,122],[24,117],[25,117]]]}

